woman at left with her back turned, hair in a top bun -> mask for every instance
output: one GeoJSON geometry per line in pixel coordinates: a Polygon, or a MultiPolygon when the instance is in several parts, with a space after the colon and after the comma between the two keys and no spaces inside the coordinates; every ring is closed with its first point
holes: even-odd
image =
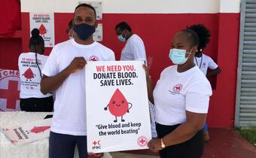
{"type": "Polygon", "coordinates": [[[44,56],[44,39],[38,29],[33,29],[29,41],[29,53],[21,53],[18,60],[20,71],[20,109],[22,111],[53,111],[53,95],[40,91],[41,69],[47,60],[44,56]]]}

